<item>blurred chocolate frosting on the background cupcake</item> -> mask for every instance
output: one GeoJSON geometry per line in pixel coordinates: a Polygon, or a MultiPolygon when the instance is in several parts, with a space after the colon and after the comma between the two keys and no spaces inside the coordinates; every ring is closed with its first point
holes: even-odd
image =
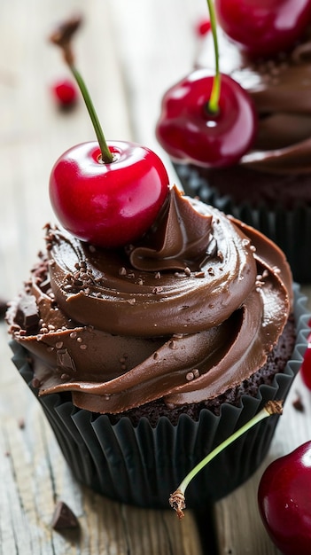
{"type": "MultiPolygon", "coordinates": [[[[252,152],[240,164],[275,174],[311,172],[311,30],[292,51],[271,59],[252,59],[219,29],[220,67],[253,97],[259,131],[252,152]]],[[[207,35],[197,65],[213,66],[214,46],[207,35]]]]}

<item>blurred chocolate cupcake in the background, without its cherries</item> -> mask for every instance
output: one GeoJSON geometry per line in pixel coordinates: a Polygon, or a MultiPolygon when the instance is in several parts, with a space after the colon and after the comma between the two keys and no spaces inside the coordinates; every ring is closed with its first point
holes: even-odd
{"type": "MultiPolygon", "coordinates": [[[[310,31],[289,51],[260,57],[218,31],[219,64],[253,99],[254,141],[228,167],[174,160],[183,189],[262,231],[282,248],[299,283],[311,281],[310,31]]],[[[206,35],[196,68],[214,71],[206,35]]]]}

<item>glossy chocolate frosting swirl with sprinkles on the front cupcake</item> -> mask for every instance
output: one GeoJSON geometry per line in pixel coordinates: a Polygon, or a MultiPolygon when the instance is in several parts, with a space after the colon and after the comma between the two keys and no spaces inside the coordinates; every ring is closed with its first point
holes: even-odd
{"type": "Polygon", "coordinates": [[[221,395],[265,363],[291,310],[278,247],[175,188],[140,245],[112,252],[51,227],[46,239],[7,319],[39,394],[70,391],[94,412],[221,395]]]}

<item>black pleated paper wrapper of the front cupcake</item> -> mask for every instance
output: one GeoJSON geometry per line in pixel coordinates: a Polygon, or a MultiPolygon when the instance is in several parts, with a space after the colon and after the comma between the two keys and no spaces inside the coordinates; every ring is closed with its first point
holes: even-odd
{"type": "MultiPolygon", "coordinates": [[[[307,347],[310,315],[306,298],[295,285],[298,335],[292,360],[271,386],[260,386],[256,398],[242,397],[241,406],[222,405],[220,416],[201,410],[198,421],[183,414],[177,425],[166,417],[152,427],[146,418],[133,426],[127,417],[112,425],[107,415],[77,409],[67,395],[37,397],[77,481],[97,493],[126,504],[167,508],[168,497],[184,476],[216,445],[243,426],[269,399],[285,399],[307,347]]],[[[27,353],[12,341],[13,362],[32,388],[27,353]]],[[[200,507],[229,494],[258,468],[266,456],[277,416],[263,420],[222,451],[191,481],[188,507],[200,507]]]]}

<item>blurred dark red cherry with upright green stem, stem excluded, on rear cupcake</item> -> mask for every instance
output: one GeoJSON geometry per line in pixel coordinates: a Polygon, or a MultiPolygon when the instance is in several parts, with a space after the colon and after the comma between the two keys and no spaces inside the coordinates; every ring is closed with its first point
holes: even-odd
{"type": "Polygon", "coordinates": [[[222,74],[219,110],[210,113],[213,82],[212,71],[198,69],[163,96],[156,135],[173,160],[219,168],[236,163],[253,144],[257,117],[252,99],[222,74]]]}

